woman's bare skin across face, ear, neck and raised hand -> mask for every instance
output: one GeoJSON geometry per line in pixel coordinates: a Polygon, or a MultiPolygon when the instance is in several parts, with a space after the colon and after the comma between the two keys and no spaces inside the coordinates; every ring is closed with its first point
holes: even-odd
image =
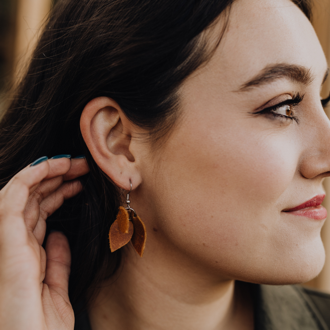
{"type": "MultiPolygon", "coordinates": [[[[117,273],[89,306],[93,330],[253,329],[249,293],[235,280],[290,284],[318,274],[324,220],[283,210],[324,193],[326,69],[310,22],[291,1],[237,0],[214,56],[183,83],[181,117],[161,145],[146,143],[114,100],[86,105],[84,141],[119,187],[129,190],[131,180],[130,206],[148,235],[143,258],[130,243],[123,248],[117,273]],[[312,79],[246,86],[274,65],[305,67],[312,79]],[[257,114],[298,92],[299,124],[257,114]]],[[[1,329],[73,329],[67,240],[52,233],[46,252],[40,244],[47,216],[80,191],[73,179],[87,172],[83,159],[48,160],[0,191],[1,329]]]]}

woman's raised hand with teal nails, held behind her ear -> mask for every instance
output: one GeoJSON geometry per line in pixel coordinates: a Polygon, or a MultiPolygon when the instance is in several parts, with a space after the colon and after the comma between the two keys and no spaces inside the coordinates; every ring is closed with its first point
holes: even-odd
{"type": "Polygon", "coordinates": [[[0,329],[69,330],[71,254],[66,237],[49,235],[46,219],[82,190],[85,159],[49,159],[28,166],[0,190],[0,329]],[[72,180],[72,181],[69,181],[72,180]]]}

